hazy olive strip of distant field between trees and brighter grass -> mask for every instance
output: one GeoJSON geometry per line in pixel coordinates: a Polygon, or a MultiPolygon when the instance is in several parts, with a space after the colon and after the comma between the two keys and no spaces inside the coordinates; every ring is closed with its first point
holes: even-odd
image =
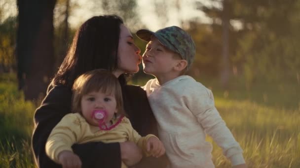
{"type": "Polygon", "coordinates": [[[274,83],[264,78],[255,80],[250,89],[245,77],[232,77],[228,89],[218,79],[202,76],[198,81],[210,88],[214,95],[230,100],[249,101],[260,106],[300,111],[300,84],[296,80],[274,83]]]}

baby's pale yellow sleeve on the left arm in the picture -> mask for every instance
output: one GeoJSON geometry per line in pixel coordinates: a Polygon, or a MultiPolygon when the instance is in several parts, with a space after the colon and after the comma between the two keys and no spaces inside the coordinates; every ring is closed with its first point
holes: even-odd
{"type": "Polygon", "coordinates": [[[67,114],[51,131],[45,148],[47,156],[54,162],[58,163],[58,154],[63,150],[73,151],[71,146],[83,134],[82,119],[78,113],[67,114]]]}

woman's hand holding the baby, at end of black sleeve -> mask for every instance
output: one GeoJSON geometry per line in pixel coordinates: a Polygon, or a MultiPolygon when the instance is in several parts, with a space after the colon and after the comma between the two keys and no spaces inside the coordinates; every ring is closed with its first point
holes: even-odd
{"type": "Polygon", "coordinates": [[[127,166],[133,166],[141,161],[142,150],[132,141],[120,142],[121,159],[127,166]]]}

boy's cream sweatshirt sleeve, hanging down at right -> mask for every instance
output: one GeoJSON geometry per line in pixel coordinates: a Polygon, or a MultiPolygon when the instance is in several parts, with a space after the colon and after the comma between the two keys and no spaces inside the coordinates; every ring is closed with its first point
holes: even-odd
{"type": "Polygon", "coordinates": [[[217,111],[211,90],[197,83],[189,87],[186,99],[188,109],[197,117],[205,132],[222,148],[232,166],[244,164],[243,151],[217,111]]]}

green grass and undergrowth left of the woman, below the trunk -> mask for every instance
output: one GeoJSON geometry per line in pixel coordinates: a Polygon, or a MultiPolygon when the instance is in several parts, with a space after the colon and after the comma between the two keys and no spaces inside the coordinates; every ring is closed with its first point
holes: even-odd
{"type": "Polygon", "coordinates": [[[30,138],[36,106],[24,101],[15,74],[0,75],[0,168],[34,168],[30,138]]]}

